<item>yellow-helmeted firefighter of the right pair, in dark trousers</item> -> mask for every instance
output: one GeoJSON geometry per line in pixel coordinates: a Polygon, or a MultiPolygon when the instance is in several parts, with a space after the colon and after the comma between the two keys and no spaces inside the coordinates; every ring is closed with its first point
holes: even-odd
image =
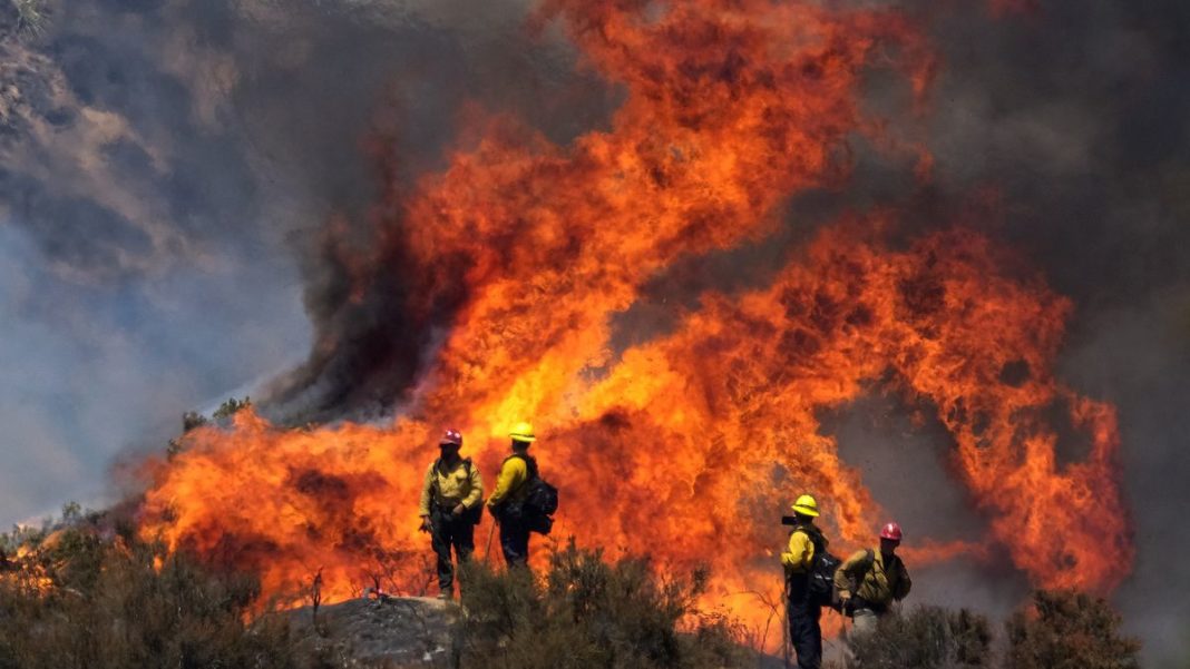
{"type": "Polygon", "coordinates": [[[796,524],[789,532],[789,549],[781,554],[785,568],[785,593],[789,595],[789,639],[797,654],[800,669],[819,669],[822,665],[822,606],[810,597],[810,568],[814,555],[825,555],[827,539],[814,525],[818,518],[818,501],[803,494],[794,503],[796,524]]]}

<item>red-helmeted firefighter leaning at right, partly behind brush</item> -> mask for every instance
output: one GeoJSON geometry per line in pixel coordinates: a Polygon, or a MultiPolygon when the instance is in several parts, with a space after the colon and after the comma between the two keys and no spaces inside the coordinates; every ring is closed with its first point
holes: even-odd
{"type": "Polygon", "coordinates": [[[913,587],[904,562],[896,555],[898,545],[901,525],[889,523],[881,530],[878,549],[856,551],[834,573],[839,600],[844,612],[856,621],[857,635],[875,631],[877,620],[913,587]]]}

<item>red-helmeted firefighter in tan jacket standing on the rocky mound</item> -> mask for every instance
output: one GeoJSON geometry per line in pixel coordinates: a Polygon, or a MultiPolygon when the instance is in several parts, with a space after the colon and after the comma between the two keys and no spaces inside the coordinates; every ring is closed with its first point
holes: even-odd
{"type": "Polygon", "coordinates": [[[461,457],[463,435],[446,430],[438,441],[439,457],[426,469],[421,484],[421,531],[430,532],[438,556],[438,599],[455,597],[455,566],[451,548],[459,564],[475,551],[475,524],[483,513],[483,479],[470,457],[461,457]]]}

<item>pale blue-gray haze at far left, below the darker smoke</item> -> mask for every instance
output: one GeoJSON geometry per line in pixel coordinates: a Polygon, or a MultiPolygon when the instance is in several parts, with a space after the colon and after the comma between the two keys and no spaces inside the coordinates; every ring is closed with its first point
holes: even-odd
{"type": "Polygon", "coordinates": [[[0,322],[8,523],[94,504],[115,455],[163,448],[183,411],[293,365],[309,329],[292,261],[81,285],[46,271],[12,225],[0,226],[0,322]]]}

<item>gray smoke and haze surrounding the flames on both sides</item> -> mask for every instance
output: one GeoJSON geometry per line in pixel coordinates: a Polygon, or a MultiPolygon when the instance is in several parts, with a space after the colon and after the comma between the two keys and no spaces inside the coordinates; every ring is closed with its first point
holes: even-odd
{"type": "MultiPolygon", "coordinates": [[[[852,183],[790,202],[774,239],[656,277],[615,342],[665,330],[702,290],[762,285],[846,209],[1008,241],[1076,303],[1061,378],[1120,409],[1138,557],[1115,601],[1150,662],[1175,665],[1190,654],[1190,7],[1047,0],[994,18],[967,1],[878,4],[917,14],[940,50],[926,115],[878,78],[868,102],[929,147],[929,184],[857,144],[852,183]]],[[[7,25],[0,520],[101,494],[113,457],[163,448],[182,411],[232,392],[281,389],[282,417],[399,399],[415,364],[369,373],[414,334],[399,290],[344,309],[346,269],[321,231],[338,216],[367,244],[377,151],[406,179],[443,165],[466,103],[562,143],[606,124],[618,93],[551,33],[528,34],[528,6],[75,0],[52,5],[40,38],[7,25]],[[319,337],[338,342],[328,356],[311,355],[319,337]]],[[[877,389],[823,429],[912,532],[979,536],[945,436],[910,409],[877,389]]],[[[1027,592],[995,564],[915,576],[916,601],[996,613],[1027,592]]]]}

